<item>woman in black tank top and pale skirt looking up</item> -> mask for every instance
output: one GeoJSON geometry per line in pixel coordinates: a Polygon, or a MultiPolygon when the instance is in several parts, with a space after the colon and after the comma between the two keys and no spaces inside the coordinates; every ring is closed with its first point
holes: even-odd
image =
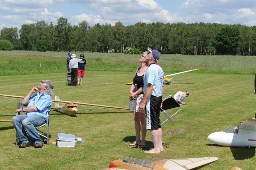
{"type": "Polygon", "coordinates": [[[146,56],[148,52],[143,52],[142,56],[140,56],[139,62],[141,63],[141,67],[139,67],[136,70],[135,76],[133,77],[133,83],[131,85],[130,89],[130,104],[129,104],[129,109],[133,110],[133,119],[135,121],[135,132],[136,132],[136,141],[131,143],[129,146],[135,146],[137,145],[138,147],[144,147],[145,144],[145,138],[146,138],[146,118],[145,118],[145,111],[140,111],[139,110],[139,105],[142,101],[142,98],[144,96],[143,94],[143,76],[144,73],[146,72],[148,65],[146,64],[146,56]],[[137,91],[133,93],[133,88],[134,85],[137,84],[137,91]],[[140,141],[140,130],[142,134],[142,138],[140,141]]]}

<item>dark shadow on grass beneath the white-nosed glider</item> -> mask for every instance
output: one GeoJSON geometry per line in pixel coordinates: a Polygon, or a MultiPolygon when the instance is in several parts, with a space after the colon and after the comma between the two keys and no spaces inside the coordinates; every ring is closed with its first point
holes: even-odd
{"type": "Polygon", "coordinates": [[[255,147],[251,148],[230,148],[235,160],[244,160],[254,157],[255,147]]]}

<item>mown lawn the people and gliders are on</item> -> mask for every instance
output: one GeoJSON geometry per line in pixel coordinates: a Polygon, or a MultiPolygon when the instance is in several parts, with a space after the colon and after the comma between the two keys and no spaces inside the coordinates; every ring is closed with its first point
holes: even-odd
{"type": "MultiPolygon", "coordinates": [[[[11,56],[11,54],[4,55],[11,56]]],[[[254,61],[254,58],[251,60],[254,61]]],[[[135,59],[127,62],[135,63],[135,59]]],[[[241,67],[242,71],[247,68],[251,72],[255,71],[250,63],[240,63],[240,65],[246,64],[248,67],[241,67]]],[[[166,66],[164,63],[162,65],[166,66]]],[[[205,67],[207,68],[207,65],[205,67]]],[[[234,67],[234,70],[237,68],[239,66],[234,67]]],[[[177,69],[180,68],[177,66],[177,69]]],[[[44,145],[41,149],[34,147],[20,149],[15,146],[15,130],[11,122],[1,122],[0,169],[99,170],[107,168],[112,160],[123,159],[126,156],[148,161],[215,156],[219,160],[197,169],[229,170],[237,166],[243,170],[254,170],[256,161],[254,147],[218,147],[207,139],[212,132],[221,131],[255,116],[254,75],[245,72],[243,75],[186,73],[175,77],[174,81],[178,83],[177,85],[165,85],[164,97],[169,94],[174,95],[179,90],[189,90],[190,96],[185,99],[187,105],[183,106],[182,111],[175,116],[175,123],[167,121],[163,124],[165,150],[161,154],[144,154],[144,150],[153,145],[149,132],[146,137],[146,147],[128,146],[135,141],[132,112],[79,106],[79,113],[75,117],[50,111],[50,144],[44,145]],[[77,147],[74,148],[59,148],[51,144],[55,141],[56,132],[84,137],[85,143],[77,143],[77,147]]],[[[171,73],[173,70],[165,71],[165,75],[171,73]]],[[[51,80],[55,85],[54,96],[59,96],[61,100],[128,107],[130,86],[125,83],[131,82],[133,75],[134,70],[86,70],[85,84],[70,87],[65,85],[66,73],[63,69],[61,73],[0,76],[0,88],[1,94],[25,96],[41,79],[51,80]]],[[[21,100],[0,98],[0,119],[12,119],[17,101],[21,100]]],[[[174,112],[174,109],[168,110],[168,113],[170,112],[174,112]]],[[[165,120],[163,114],[160,114],[161,120],[165,120]]]]}

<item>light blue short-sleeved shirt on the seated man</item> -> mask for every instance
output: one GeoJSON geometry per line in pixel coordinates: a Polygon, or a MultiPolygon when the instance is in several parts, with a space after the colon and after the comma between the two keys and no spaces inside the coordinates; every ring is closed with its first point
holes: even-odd
{"type": "Polygon", "coordinates": [[[45,121],[47,121],[46,112],[50,111],[52,103],[53,101],[51,100],[51,96],[48,93],[43,93],[40,95],[40,92],[38,92],[30,97],[27,107],[35,106],[39,110],[35,112],[26,112],[26,114],[28,117],[32,114],[37,114],[39,116],[43,116],[45,121]]]}

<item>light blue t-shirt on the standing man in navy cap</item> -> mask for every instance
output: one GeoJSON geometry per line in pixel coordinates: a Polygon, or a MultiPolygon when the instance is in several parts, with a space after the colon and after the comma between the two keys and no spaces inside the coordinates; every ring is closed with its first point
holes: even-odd
{"type": "Polygon", "coordinates": [[[153,85],[152,94],[155,97],[159,97],[162,95],[163,88],[163,80],[164,80],[164,71],[157,64],[150,64],[147,71],[144,74],[143,78],[143,93],[146,93],[146,89],[148,84],[153,85]]]}

